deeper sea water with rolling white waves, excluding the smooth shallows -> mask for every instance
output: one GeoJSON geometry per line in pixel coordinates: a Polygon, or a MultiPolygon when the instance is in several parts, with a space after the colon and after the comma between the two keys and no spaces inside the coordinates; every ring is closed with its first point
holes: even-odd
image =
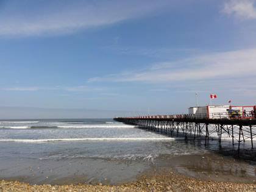
{"type": "Polygon", "coordinates": [[[0,158],[112,158],[154,161],[159,154],[203,149],[112,119],[33,119],[0,122],[0,158]]]}

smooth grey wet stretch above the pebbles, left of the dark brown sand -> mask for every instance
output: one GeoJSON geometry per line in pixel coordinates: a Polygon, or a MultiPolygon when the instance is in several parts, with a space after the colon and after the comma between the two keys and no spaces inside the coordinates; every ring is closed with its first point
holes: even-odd
{"type": "Polygon", "coordinates": [[[141,162],[119,162],[99,158],[75,160],[0,161],[0,180],[18,180],[31,185],[96,183],[118,185],[133,182],[151,166],[141,162]]]}

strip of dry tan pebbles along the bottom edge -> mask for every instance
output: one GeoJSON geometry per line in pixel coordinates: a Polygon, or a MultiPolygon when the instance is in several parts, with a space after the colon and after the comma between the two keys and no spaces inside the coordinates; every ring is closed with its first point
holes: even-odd
{"type": "Polygon", "coordinates": [[[146,171],[136,182],[120,185],[30,185],[18,181],[0,181],[0,191],[255,191],[256,184],[200,180],[177,174],[173,169],[146,171]]]}

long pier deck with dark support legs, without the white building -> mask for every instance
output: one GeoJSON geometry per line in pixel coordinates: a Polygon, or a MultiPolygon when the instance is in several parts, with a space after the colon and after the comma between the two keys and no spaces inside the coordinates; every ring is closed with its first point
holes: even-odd
{"type": "Polygon", "coordinates": [[[161,132],[172,137],[184,137],[185,140],[217,139],[221,146],[222,140],[232,140],[232,144],[251,141],[254,148],[256,135],[255,116],[231,118],[227,114],[182,114],[182,115],[156,115],[156,116],[133,116],[116,117],[115,121],[138,126],[141,129],[161,132]],[[209,118],[210,117],[210,118],[209,118]]]}

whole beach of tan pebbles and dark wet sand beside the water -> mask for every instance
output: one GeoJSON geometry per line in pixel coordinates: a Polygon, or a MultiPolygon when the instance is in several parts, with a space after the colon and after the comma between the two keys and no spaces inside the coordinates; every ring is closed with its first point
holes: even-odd
{"type": "Polygon", "coordinates": [[[0,191],[255,191],[256,177],[248,169],[255,171],[254,166],[218,154],[160,157],[150,170],[133,178],[134,182],[111,185],[105,179],[92,185],[86,184],[85,176],[70,176],[55,181],[58,185],[32,185],[12,177],[1,181],[0,191]]]}

